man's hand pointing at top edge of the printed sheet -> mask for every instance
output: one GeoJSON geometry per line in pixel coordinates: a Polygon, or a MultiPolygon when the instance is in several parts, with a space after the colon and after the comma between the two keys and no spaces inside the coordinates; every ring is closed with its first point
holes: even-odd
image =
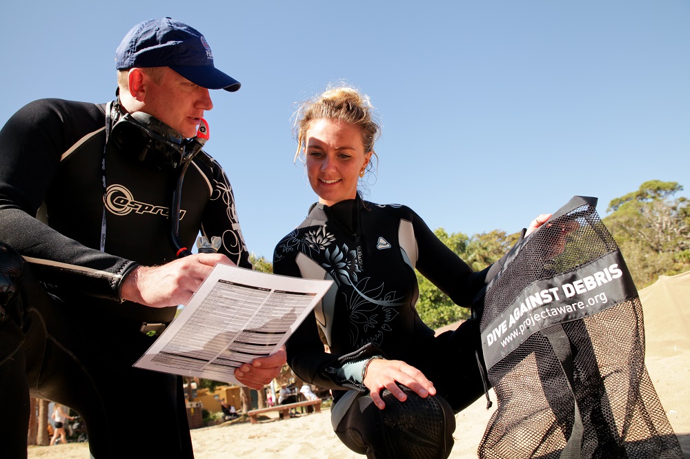
{"type": "Polygon", "coordinates": [[[235,265],[223,254],[196,254],[161,266],[139,266],[123,281],[122,299],[149,307],[186,305],[217,263],[235,265]]]}

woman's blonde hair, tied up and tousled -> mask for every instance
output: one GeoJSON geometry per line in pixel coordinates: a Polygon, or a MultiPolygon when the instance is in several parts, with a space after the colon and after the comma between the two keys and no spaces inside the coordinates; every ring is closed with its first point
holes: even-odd
{"type": "MultiPolygon", "coordinates": [[[[306,152],[306,132],[311,123],[319,119],[334,119],[355,125],[362,130],[362,144],[364,152],[374,152],[374,143],[381,134],[381,126],[374,116],[374,107],[369,96],[359,90],[343,85],[329,87],[325,92],[311,101],[302,103],[295,114],[295,136],[297,137],[297,152],[306,152]]],[[[378,159],[378,156],[377,156],[378,159]]],[[[369,161],[367,170],[373,168],[369,161]]]]}

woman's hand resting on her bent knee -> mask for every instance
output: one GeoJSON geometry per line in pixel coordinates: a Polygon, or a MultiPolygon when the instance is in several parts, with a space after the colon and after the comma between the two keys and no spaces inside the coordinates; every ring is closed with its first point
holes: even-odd
{"type": "Polygon", "coordinates": [[[407,365],[402,360],[386,360],[383,358],[371,360],[366,367],[363,382],[371,393],[371,400],[379,409],[386,407],[386,403],[381,398],[381,391],[383,389],[391,391],[391,394],[401,402],[407,399],[405,393],[396,383],[409,387],[422,398],[426,398],[428,394],[436,394],[433,383],[426,379],[422,371],[412,365],[407,365]]]}

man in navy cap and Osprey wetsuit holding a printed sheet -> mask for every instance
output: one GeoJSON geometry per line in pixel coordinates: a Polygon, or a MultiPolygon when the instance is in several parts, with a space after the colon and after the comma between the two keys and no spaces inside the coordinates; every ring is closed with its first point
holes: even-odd
{"type": "MultiPolygon", "coordinates": [[[[79,412],[95,458],[193,457],[181,378],[132,364],[216,263],[251,268],[228,179],[190,139],[209,90],[239,82],[170,18],[132,28],[115,60],[117,100],[34,101],[0,131],[7,457],[26,457],[30,395],[79,412]],[[218,253],[190,254],[199,231],[220,238],[218,253]]],[[[235,376],[259,389],[285,360],[257,358],[235,376]]]]}

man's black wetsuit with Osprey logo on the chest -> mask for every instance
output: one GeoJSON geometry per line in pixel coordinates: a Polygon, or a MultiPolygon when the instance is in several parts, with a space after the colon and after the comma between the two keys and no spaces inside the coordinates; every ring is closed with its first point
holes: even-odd
{"type": "MultiPolygon", "coordinates": [[[[112,142],[104,154],[105,125],[105,104],[43,99],[0,132],[0,243],[29,262],[14,298],[21,307],[0,314],[0,383],[16,386],[0,391],[13,414],[1,443],[26,454],[28,385],[83,416],[96,458],[192,456],[179,378],[132,368],[155,339],[139,332],[142,323],[169,323],[177,308],[122,302],[119,292],[137,265],[176,258],[168,213],[179,170],[112,142]]],[[[251,267],[230,183],[204,152],[184,179],[181,242],[193,247],[199,230],[251,267]]]]}

